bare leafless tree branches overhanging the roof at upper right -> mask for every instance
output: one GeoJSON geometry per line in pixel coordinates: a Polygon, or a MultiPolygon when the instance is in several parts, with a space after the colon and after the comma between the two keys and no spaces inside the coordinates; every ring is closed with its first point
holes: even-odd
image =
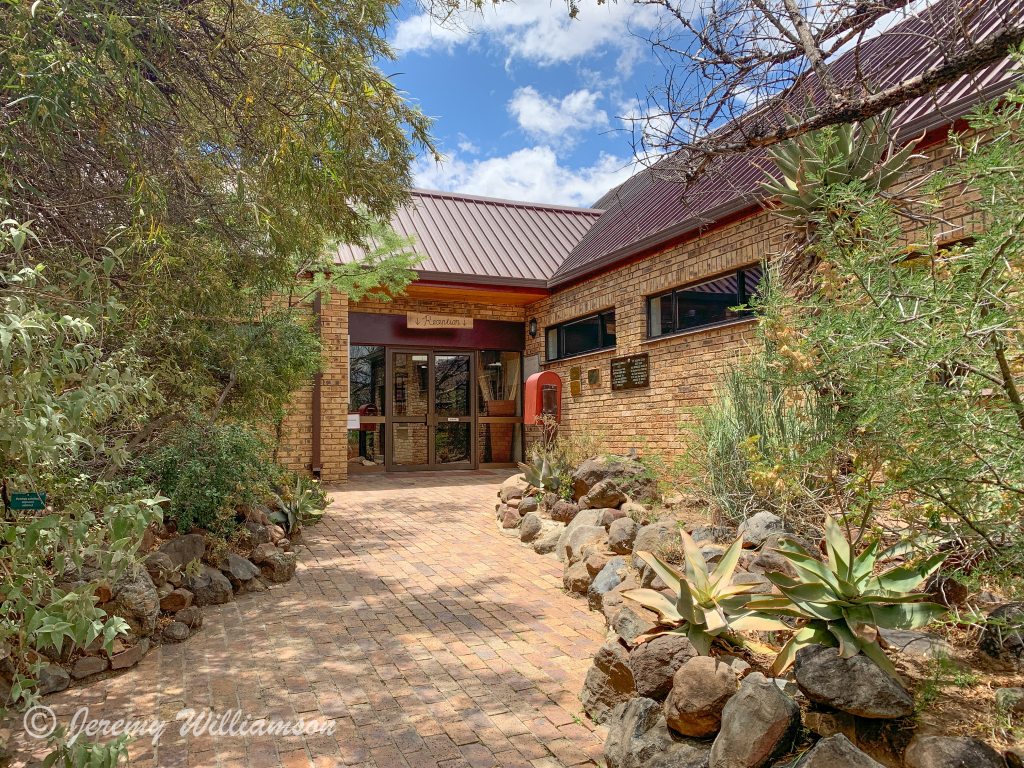
{"type": "MultiPolygon", "coordinates": [[[[967,78],[1024,41],[1018,0],[635,0],[664,83],[634,122],[654,172],[689,183],[720,159],[862,121],[967,78]],[[663,157],[668,155],[669,157],[663,157]]],[[[963,95],[963,94],[959,94],[963,95]]]]}

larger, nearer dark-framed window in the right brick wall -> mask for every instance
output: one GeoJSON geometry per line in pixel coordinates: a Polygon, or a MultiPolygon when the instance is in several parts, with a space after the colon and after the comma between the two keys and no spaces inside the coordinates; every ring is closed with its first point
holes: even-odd
{"type": "Polygon", "coordinates": [[[647,338],[705,328],[751,315],[737,309],[757,295],[761,267],[739,269],[718,280],[684,286],[647,299],[647,338]]]}

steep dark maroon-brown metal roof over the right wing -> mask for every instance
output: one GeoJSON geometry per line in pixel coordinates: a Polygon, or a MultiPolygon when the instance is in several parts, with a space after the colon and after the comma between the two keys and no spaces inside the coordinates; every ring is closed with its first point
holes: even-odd
{"type": "MultiPolygon", "coordinates": [[[[937,47],[923,50],[923,41],[933,34],[934,27],[940,26],[942,6],[931,6],[865,42],[859,61],[855,61],[852,53],[840,57],[834,73],[838,79],[849,82],[854,77],[854,68],[859,66],[870,82],[885,88],[939,63],[948,50],[937,47]]],[[[983,8],[971,24],[978,38],[997,29],[1007,15],[1020,14],[1024,2],[986,2],[983,8]]],[[[900,137],[909,139],[924,130],[947,125],[964,117],[978,102],[998,96],[1019,79],[1020,73],[1012,70],[1013,62],[1006,59],[902,104],[895,118],[900,137]]],[[[806,94],[820,94],[820,89],[814,88],[813,77],[794,96],[802,103],[806,94]]],[[[723,130],[729,130],[729,126],[723,130]]],[[[764,151],[723,158],[712,172],[690,184],[685,201],[678,183],[657,178],[649,171],[633,176],[594,204],[595,208],[605,209],[603,215],[568,254],[549,286],[579,280],[749,208],[762,198],[762,169],[768,168],[774,170],[764,151]]]]}

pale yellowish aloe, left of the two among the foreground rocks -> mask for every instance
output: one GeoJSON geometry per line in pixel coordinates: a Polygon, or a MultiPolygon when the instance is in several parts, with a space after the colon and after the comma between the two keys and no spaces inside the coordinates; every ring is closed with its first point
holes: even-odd
{"type": "Polygon", "coordinates": [[[635,589],[623,592],[623,597],[657,611],[663,625],[671,628],[650,633],[644,639],[666,634],[686,635],[697,652],[706,656],[716,638],[732,645],[746,645],[749,643],[736,637],[736,632],[790,629],[772,615],[748,608],[748,602],[754,596],[746,593],[756,585],[731,584],[743,548],[742,537],[730,545],[718,565],[709,573],[696,543],[685,531],[680,534],[685,558],[683,573],[651,552],[636,553],[675,591],[675,602],[655,590],[635,589]]]}

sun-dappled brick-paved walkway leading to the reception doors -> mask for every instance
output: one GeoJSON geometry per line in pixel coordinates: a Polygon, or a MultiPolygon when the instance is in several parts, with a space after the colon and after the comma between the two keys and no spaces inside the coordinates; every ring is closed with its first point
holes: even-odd
{"type": "MultiPolygon", "coordinates": [[[[306,531],[295,580],[206,609],[201,633],[47,699],[61,723],[185,707],[333,719],[333,736],[180,736],[134,766],[556,768],[601,742],[579,700],[603,625],[561,567],[498,532],[508,472],[357,476],[306,531]]],[[[25,743],[24,734],[18,741],[25,743]]]]}

